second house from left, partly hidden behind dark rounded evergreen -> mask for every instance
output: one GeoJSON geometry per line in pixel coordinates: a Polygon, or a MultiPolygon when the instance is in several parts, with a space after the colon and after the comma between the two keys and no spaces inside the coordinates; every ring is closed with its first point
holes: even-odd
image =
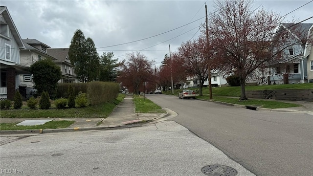
{"type": "MultiPolygon", "coordinates": [[[[36,39],[22,39],[22,41],[25,48],[20,50],[20,62],[23,66],[30,67],[36,61],[47,58],[57,60],[47,54],[47,49],[50,48],[47,44],[36,39]]],[[[19,81],[20,89],[22,89],[22,96],[26,97],[31,91],[34,91],[34,83],[30,73],[19,75],[19,81]]]]}

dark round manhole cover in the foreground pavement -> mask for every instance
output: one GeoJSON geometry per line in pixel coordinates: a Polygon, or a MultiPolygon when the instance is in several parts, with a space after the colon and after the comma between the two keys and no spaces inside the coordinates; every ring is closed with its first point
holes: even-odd
{"type": "Polygon", "coordinates": [[[208,165],[201,169],[207,176],[236,176],[237,171],[234,168],[223,165],[208,165]]]}

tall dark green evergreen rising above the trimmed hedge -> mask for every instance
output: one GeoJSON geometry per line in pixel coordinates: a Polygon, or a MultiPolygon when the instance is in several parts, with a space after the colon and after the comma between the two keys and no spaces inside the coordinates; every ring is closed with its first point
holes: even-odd
{"type": "Polygon", "coordinates": [[[97,80],[100,59],[91,38],[85,39],[84,33],[77,29],[68,50],[69,60],[74,67],[77,78],[83,82],[97,80]]]}

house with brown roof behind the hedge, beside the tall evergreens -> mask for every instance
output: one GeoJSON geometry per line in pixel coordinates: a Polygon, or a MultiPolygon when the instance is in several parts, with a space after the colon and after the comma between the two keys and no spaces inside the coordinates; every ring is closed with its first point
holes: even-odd
{"type": "Polygon", "coordinates": [[[69,61],[68,50],[69,48],[49,48],[47,53],[56,58],[54,62],[61,67],[62,78],[59,83],[78,83],[74,68],[69,61]]]}

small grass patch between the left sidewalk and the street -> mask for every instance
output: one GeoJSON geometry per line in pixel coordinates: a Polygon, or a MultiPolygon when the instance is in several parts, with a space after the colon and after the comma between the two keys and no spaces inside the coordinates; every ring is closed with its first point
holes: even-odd
{"type": "Polygon", "coordinates": [[[137,113],[164,113],[161,107],[154,104],[149,99],[144,99],[143,96],[134,96],[135,112],[137,113]]]}

